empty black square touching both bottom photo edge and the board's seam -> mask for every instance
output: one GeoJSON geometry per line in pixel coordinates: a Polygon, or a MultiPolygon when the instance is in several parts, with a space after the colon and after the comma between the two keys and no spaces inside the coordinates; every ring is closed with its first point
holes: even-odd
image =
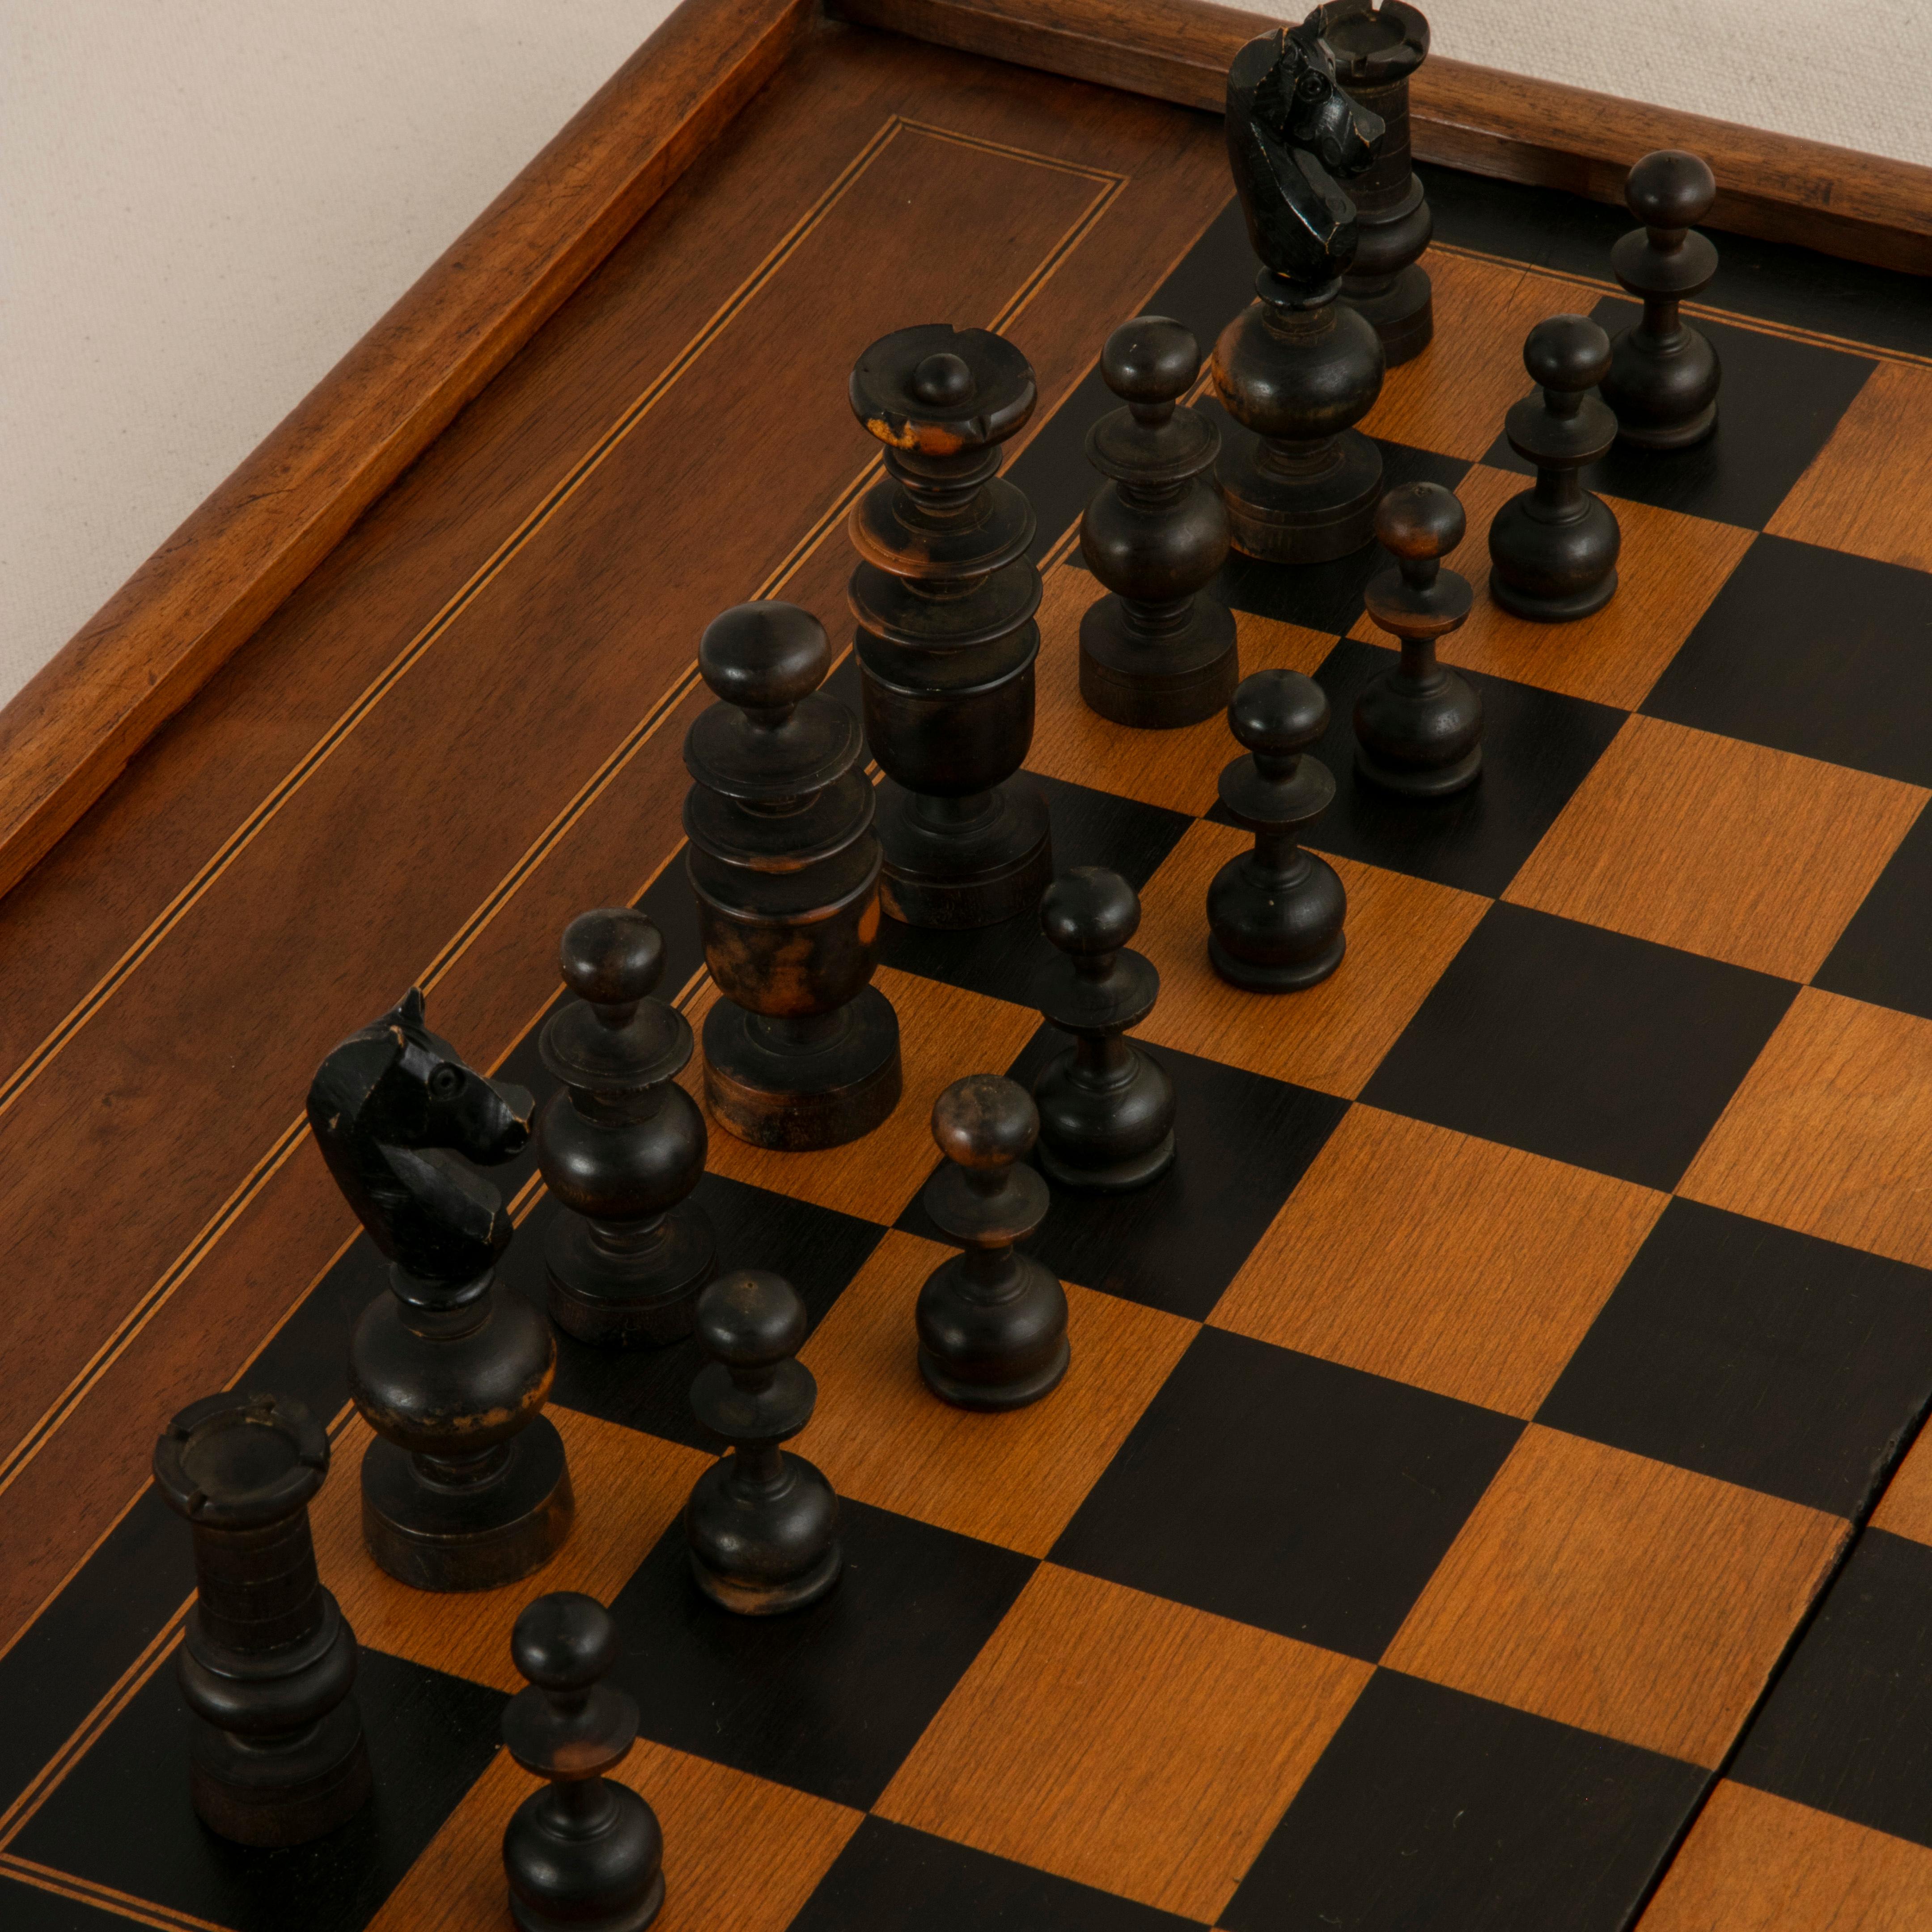
{"type": "Polygon", "coordinates": [[[1617,1932],[1708,1774],[1376,1671],[1233,1903],[1229,1932],[1617,1932]]]}

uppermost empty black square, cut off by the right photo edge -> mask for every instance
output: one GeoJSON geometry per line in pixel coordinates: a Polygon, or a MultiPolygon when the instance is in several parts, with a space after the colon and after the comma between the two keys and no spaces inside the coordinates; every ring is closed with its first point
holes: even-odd
{"type": "Polygon", "coordinates": [[[1758,537],[1642,709],[1932,784],[1932,576],[1758,537]]]}

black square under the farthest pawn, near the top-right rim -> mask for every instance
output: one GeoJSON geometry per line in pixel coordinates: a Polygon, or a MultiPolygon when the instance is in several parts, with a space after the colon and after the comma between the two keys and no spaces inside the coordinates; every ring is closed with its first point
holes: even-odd
{"type": "MultiPolygon", "coordinates": [[[[1615,334],[1644,311],[1621,296],[1605,296],[1590,313],[1615,334]]],[[[1791,485],[1832,440],[1839,417],[1864,388],[1872,361],[1702,315],[1692,325],[1723,363],[1716,433],[1689,450],[1636,450],[1619,442],[1604,462],[1584,469],[1584,489],[1764,529],[1791,485]]],[[[1522,392],[1528,390],[1524,377],[1522,392]]],[[[1519,475],[1534,471],[1501,431],[1484,462],[1519,475]]]]}

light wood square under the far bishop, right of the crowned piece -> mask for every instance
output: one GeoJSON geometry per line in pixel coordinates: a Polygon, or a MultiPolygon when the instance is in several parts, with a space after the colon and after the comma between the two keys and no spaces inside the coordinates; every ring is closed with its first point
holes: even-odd
{"type": "MultiPolygon", "coordinates": [[[[1101,597],[1105,589],[1086,570],[1063,564],[1047,572],[1026,769],[1169,811],[1206,811],[1215,802],[1221,767],[1240,755],[1223,713],[1177,730],[1134,730],[1090,711],[1080,696],[1080,618],[1101,597]]],[[[1269,668],[1314,672],[1335,649],[1327,632],[1248,611],[1235,612],[1235,639],[1242,676],[1269,668]]]]}

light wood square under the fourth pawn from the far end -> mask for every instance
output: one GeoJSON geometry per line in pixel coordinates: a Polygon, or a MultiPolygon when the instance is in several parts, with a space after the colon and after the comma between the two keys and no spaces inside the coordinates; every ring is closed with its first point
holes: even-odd
{"type": "Polygon", "coordinates": [[[1321,985],[1246,993],[1208,964],[1208,885],[1252,848],[1202,819],[1148,881],[1134,945],[1159,966],[1161,997],[1136,1037],[1352,1099],[1490,902],[1325,854],[1349,891],[1349,952],[1321,985]]]}

